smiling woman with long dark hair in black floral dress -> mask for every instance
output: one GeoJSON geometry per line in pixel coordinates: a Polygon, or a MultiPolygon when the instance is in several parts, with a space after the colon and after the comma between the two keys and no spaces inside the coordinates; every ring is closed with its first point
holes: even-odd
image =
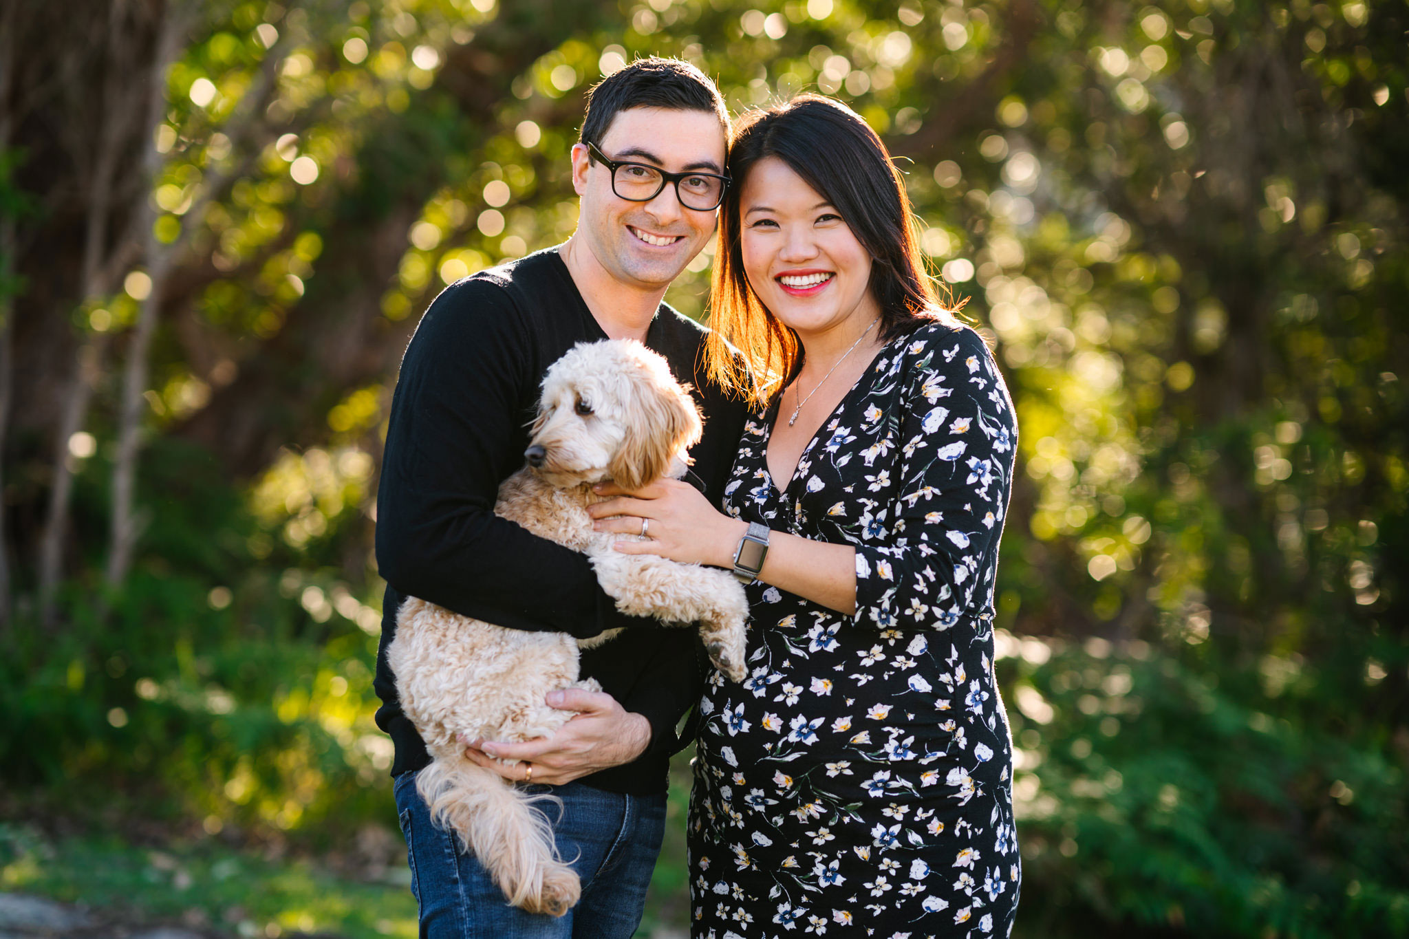
{"type": "Polygon", "coordinates": [[[710,366],[757,410],[727,514],[671,481],[595,511],[648,531],[620,550],[723,567],[748,522],[769,529],[750,677],[716,673],[700,705],[695,935],[1007,935],[992,612],[1012,401],[940,307],[900,176],[854,111],[803,96],[745,117],[728,173],[710,366]]]}

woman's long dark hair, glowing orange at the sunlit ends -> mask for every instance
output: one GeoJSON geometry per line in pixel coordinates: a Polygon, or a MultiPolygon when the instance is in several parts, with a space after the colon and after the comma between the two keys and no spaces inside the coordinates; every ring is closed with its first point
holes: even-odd
{"type": "MultiPolygon", "coordinates": [[[[710,291],[709,374],[762,404],[800,365],[802,344],[748,287],[740,194],[758,160],[776,156],[826,198],[871,255],[868,289],[881,308],[881,338],[943,320],[958,325],[924,269],[914,211],[890,153],[859,114],[834,99],[800,94],[740,118],[728,151],[719,215],[720,251],[710,291]]],[[[945,297],[947,298],[947,297],[945,297]]]]}

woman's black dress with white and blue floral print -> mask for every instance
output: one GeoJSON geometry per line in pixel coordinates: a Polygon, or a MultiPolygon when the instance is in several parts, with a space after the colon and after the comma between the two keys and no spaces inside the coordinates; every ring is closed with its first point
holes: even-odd
{"type": "Polygon", "coordinates": [[[693,936],[1006,936],[1019,893],[993,577],[1016,424],[983,341],[889,342],[783,491],[755,415],[731,515],[854,545],[857,614],[750,590],[750,677],[713,674],[690,800],[693,936]]]}

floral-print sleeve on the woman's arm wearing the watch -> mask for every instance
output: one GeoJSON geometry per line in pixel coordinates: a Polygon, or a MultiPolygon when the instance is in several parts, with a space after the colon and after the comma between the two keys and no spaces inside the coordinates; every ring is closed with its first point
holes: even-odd
{"type": "Polygon", "coordinates": [[[993,608],[1017,424],[971,329],[924,329],[888,415],[898,459],[889,536],[857,545],[858,624],[944,629],[993,608]]]}

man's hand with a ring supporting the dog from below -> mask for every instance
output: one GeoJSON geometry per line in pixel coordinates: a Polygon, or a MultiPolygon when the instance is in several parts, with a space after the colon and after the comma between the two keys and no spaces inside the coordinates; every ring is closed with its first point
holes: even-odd
{"type": "Polygon", "coordinates": [[[533,766],[534,783],[562,786],[599,770],[630,763],[651,743],[650,721],[623,708],[610,694],[564,688],[550,691],[547,702],[551,708],[576,714],[552,736],[523,743],[461,738],[465,756],[514,783],[524,781],[528,773],[524,763],[528,763],[533,766]]]}

